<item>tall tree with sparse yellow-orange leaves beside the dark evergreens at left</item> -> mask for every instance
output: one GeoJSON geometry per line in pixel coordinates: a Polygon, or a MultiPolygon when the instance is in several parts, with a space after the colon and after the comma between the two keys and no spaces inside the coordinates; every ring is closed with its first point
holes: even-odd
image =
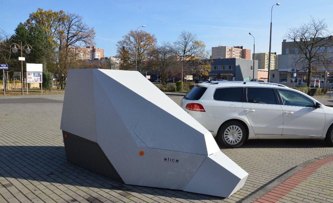
{"type": "Polygon", "coordinates": [[[58,74],[58,82],[61,89],[65,88],[67,70],[75,68],[75,61],[79,53],[75,48],[82,45],[93,45],[95,30],[83,22],[81,16],[64,11],[44,11],[38,9],[30,14],[26,21],[27,26],[39,25],[44,29],[50,41],[55,47],[53,54],[54,69],[58,74]]]}

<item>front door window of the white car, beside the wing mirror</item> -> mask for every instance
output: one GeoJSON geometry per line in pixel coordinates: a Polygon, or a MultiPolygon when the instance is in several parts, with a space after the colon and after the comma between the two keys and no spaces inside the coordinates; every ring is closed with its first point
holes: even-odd
{"type": "Polygon", "coordinates": [[[284,105],[315,108],[313,100],[301,93],[285,89],[277,90],[279,91],[284,105]]]}

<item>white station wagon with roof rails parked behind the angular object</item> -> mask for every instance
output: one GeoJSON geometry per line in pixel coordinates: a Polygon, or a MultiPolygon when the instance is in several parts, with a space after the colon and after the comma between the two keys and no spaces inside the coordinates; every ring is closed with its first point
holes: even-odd
{"type": "Polygon", "coordinates": [[[247,139],[325,139],[333,146],[333,108],[284,85],[195,84],[181,107],[228,148],[247,139]]]}

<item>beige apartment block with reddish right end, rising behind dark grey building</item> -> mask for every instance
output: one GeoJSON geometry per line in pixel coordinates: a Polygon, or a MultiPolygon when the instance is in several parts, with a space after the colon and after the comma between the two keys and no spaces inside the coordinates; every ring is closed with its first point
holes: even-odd
{"type": "Polygon", "coordinates": [[[242,58],[251,59],[251,50],[243,49],[243,46],[218,46],[211,48],[212,59],[224,59],[224,58],[242,58]]]}

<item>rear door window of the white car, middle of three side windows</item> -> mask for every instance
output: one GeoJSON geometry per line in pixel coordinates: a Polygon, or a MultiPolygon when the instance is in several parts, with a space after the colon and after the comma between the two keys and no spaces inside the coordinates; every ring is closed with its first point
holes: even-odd
{"type": "Polygon", "coordinates": [[[248,103],[277,104],[273,88],[248,87],[246,97],[248,103]]]}

